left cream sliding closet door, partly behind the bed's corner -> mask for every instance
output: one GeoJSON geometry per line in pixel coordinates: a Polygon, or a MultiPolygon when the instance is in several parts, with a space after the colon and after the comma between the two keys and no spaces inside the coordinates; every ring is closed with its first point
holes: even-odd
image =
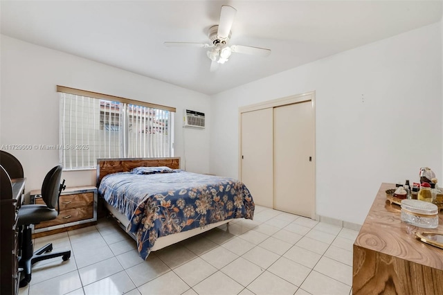
{"type": "Polygon", "coordinates": [[[273,109],[241,114],[242,182],[255,204],[273,206],[273,109]]]}

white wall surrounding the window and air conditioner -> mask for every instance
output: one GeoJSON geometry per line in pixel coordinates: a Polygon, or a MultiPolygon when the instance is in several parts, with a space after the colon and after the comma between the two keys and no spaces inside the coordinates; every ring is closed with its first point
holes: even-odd
{"type": "MultiPolygon", "coordinates": [[[[0,42],[0,145],[59,143],[59,99],[55,91],[59,84],[177,107],[174,155],[181,157],[182,168],[186,162],[186,169],[192,172],[209,171],[210,124],[206,129],[182,128],[183,109],[210,116],[208,96],[4,35],[0,42]]],[[[57,150],[7,151],[24,166],[27,191],[41,188],[46,172],[59,163],[57,150]]],[[[63,177],[67,186],[95,185],[96,171],[64,172],[63,177]]]]}

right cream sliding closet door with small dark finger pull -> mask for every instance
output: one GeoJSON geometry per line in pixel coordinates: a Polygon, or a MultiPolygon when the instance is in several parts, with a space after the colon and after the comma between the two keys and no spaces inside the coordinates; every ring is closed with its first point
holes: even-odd
{"type": "Polygon", "coordinates": [[[274,208],[315,218],[312,102],[275,107],[273,113],[274,208]]]}

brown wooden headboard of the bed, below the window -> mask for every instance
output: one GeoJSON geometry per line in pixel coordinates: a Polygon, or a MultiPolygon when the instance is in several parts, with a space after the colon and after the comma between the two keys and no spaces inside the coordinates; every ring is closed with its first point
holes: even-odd
{"type": "Polygon", "coordinates": [[[180,158],[97,159],[97,187],[105,175],[116,172],[128,172],[136,167],[158,166],[180,169],[180,158]]]}

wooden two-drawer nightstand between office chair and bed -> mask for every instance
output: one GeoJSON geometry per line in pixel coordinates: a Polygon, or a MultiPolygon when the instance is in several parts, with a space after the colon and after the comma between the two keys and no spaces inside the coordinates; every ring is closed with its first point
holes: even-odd
{"type": "MultiPolygon", "coordinates": [[[[30,191],[31,204],[44,204],[41,190],[30,191]]],[[[60,214],[57,219],[35,224],[33,238],[97,223],[97,188],[95,186],[76,186],[66,188],[60,195],[60,214]]]]}

